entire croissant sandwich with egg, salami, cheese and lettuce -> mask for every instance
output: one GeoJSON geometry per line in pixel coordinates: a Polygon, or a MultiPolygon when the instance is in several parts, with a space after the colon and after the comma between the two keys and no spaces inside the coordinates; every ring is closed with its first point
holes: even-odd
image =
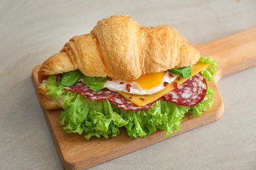
{"type": "Polygon", "coordinates": [[[185,113],[193,117],[211,107],[214,89],[207,81],[216,68],[170,26],[111,16],[43,62],[38,96],[43,108],[63,108],[64,130],[87,139],[115,137],[121,127],[130,137],[157,129],[169,137],[185,113]]]}

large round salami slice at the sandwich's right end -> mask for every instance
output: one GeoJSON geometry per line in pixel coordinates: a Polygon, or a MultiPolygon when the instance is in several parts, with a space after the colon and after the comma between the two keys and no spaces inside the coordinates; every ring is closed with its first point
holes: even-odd
{"type": "Polygon", "coordinates": [[[163,97],[181,106],[196,106],[205,98],[207,88],[205,77],[198,73],[163,97]]]}

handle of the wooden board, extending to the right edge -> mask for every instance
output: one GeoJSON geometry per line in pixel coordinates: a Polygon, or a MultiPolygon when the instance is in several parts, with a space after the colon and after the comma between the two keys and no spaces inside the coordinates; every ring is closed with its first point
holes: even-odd
{"type": "Polygon", "coordinates": [[[221,79],[256,66],[256,26],[194,47],[202,57],[218,60],[216,79],[221,79]]]}

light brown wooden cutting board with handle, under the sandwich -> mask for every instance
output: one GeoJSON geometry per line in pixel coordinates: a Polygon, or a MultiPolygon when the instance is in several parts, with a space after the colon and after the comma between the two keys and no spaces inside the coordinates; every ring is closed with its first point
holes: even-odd
{"type": "MultiPolygon", "coordinates": [[[[201,116],[190,118],[191,113],[187,113],[182,120],[181,130],[174,132],[171,137],[218,120],[224,112],[223,100],[216,86],[218,80],[256,66],[256,26],[206,44],[190,44],[201,52],[201,56],[213,57],[218,60],[218,76],[215,77],[215,82],[208,84],[215,89],[214,102],[212,108],[207,109],[201,116]]],[[[39,68],[40,65],[34,67],[32,72],[35,89],[38,86],[37,72],[39,68]]],[[[164,130],[158,130],[145,138],[134,139],[130,138],[124,129],[121,129],[117,137],[110,137],[109,139],[92,137],[90,140],[86,140],[83,135],[70,135],[63,130],[63,126],[58,123],[60,112],[61,110],[46,111],[43,109],[64,169],[87,169],[168,139],[165,137],[166,132],[164,130]]]]}

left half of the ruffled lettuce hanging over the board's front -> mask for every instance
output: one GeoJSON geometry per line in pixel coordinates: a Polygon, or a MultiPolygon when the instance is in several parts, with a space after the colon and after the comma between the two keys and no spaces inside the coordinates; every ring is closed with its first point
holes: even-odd
{"type": "Polygon", "coordinates": [[[126,125],[121,115],[114,112],[110,101],[90,101],[80,94],[69,92],[63,99],[65,111],[60,113],[60,125],[69,133],[85,132],[85,138],[92,136],[116,137],[119,128],[126,125]]]}

